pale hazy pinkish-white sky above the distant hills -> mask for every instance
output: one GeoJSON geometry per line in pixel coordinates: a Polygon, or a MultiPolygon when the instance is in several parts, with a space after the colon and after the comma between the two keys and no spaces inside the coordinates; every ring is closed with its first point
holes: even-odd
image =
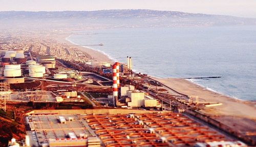
{"type": "Polygon", "coordinates": [[[256,17],[256,0],[0,0],[0,11],[153,9],[256,17]]]}

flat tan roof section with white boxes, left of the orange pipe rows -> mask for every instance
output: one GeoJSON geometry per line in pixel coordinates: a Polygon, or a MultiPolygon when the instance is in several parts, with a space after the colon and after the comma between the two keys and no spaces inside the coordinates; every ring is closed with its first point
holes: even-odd
{"type": "MultiPolygon", "coordinates": [[[[99,144],[100,139],[88,131],[80,116],[76,114],[32,114],[26,117],[30,126],[29,134],[34,134],[31,146],[38,141],[39,146],[89,146],[99,144]],[[92,138],[90,138],[92,137],[92,138]],[[96,138],[95,138],[96,137],[96,138]],[[96,139],[96,140],[95,140],[96,139]],[[96,142],[95,142],[96,141],[96,142]],[[90,143],[89,143],[90,142],[90,143]]],[[[32,136],[30,136],[32,138],[32,136]]],[[[98,145],[97,145],[98,146],[98,145]]]]}

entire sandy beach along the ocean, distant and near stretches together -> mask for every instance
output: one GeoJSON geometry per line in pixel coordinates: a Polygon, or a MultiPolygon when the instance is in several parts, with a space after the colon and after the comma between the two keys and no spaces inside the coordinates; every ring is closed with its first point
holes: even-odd
{"type": "MultiPolygon", "coordinates": [[[[59,41],[60,43],[66,43],[72,46],[74,44],[66,40],[69,35],[56,35],[54,39],[59,41]]],[[[97,60],[98,63],[114,63],[114,61],[111,60],[108,55],[105,55],[100,51],[88,47],[76,47],[86,52],[89,56],[97,60]]],[[[221,106],[204,108],[199,111],[210,116],[212,119],[220,121],[225,125],[236,126],[237,130],[241,132],[256,131],[256,115],[252,115],[253,113],[256,114],[256,101],[232,98],[216,91],[210,91],[202,85],[183,78],[156,78],[154,76],[150,77],[160,83],[163,83],[169,89],[173,89],[178,93],[187,96],[198,96],[208,102],[222,103],[223,105],[221,106]],[[251,127],[249,128],[248,126],[251,127]]]]}

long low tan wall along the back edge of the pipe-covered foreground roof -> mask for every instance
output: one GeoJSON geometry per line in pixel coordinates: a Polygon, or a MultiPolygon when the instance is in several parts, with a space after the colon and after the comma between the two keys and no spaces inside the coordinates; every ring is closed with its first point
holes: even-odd
{"type": "Polygon", "coordinates": [[[129,114],[129,113],[158,113],[161,111],[144,111],[133,109],[71,109],[71,110],[33,110],[32,113],[58,113],[58,114],[129,114]]]}

